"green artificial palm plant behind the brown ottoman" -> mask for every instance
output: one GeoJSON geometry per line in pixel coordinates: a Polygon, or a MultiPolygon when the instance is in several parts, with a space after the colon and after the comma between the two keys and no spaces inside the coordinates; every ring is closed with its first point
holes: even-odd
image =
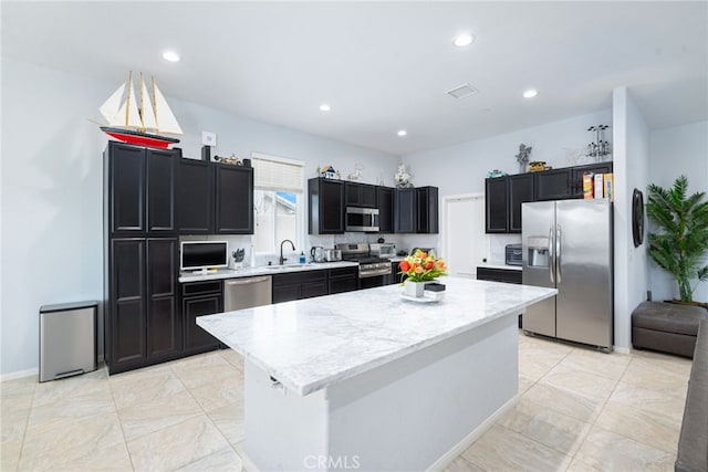
{"type": "Polygon", "coordinates": [[[649,255],[678,282],[683,302],[693,302],[699,282],[708,281],[708,201],[706,192],[688,196],[680,176],[669,189],[649,185],[647,214],[658,231],[649,233],[649,255]],[[704,265],[705,264],[705,265],[704,265]],[[691,286],[691,282],[697,280],[691,286]]]}

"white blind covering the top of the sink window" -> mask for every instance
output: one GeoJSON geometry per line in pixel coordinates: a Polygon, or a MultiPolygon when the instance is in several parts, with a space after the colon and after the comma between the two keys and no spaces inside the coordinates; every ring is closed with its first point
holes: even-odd
{"type": "Polygon", "coordinates": [[[287,190],[302,193],[302,160],[251,153],[253,187],[260,190],[287,190]]]}

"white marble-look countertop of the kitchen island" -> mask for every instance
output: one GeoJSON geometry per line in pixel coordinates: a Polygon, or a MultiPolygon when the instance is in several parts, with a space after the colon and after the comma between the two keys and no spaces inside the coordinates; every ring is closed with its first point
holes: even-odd
{"type": "Polygon", "coordinates": [[[445,298],[414,303],[398,285],[200,316],[197,325],[300,396],[506,315],[554,289],[442,277],[445,298]]]}

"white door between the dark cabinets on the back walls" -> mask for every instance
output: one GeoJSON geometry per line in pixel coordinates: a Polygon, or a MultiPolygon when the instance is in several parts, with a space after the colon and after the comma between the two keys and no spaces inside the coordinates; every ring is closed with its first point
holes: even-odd
{"type": "Polygon", "coordinates": [[[485,196],[445,199],[445,259],[448,274],[476,279],[477,265],[487,256],[485,196]]]}

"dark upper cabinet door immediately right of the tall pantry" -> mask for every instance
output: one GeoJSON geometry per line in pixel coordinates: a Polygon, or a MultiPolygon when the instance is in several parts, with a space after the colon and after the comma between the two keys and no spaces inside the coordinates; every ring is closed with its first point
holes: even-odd
{"type": "Polygon", "coordinates": [[[214,233],[214,165],[180,159],[176,200],[181,234],[214,233]]]}

